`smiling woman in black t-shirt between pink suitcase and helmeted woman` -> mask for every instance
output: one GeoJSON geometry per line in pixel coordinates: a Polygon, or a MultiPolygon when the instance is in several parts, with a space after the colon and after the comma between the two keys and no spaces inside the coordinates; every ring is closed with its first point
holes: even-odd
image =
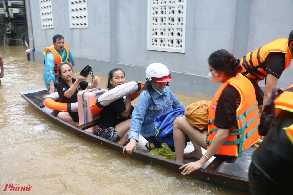
{"type": "MultiPolygon", "coordinates": [[[[125,72],[120,68],[111,70],[108,75],[108,90],[125,83],[125,72]]],[[[131,95],[126,96],[126,102],[122,97],[110,103],[101,111],[99,129],[95,134],[115,143],[125,144],[130,129],[130,111],[131,95]]]]}

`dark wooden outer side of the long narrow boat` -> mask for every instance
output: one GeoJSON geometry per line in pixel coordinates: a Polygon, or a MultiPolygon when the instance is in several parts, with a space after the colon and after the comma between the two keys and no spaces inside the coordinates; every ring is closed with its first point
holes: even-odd
{"type": "MultiPolygon", "coordinates": [[[[45,112],[45,110],[42,109],[41,105],[35,104],[31,98],[29,98],[29,95],[35,94],[35,93],[47,93],[47,89],[40,89],[40,90],[32,90],[32,91],[25,91],[20,93],[21,96],[31,105],[33,106],[36,111],[39,113],[45,115],[47,118],[52,120],[53,122],[59,124],[60,126],[64,127],[65,129],[68,129],[69,131],[73,132],[76,134],[76,136],[84,137],[88,140],[91,140],[93,142],[96,142],[100,145],[106,146],[108,148],[111,148],[113,150],[116,150],[120,153],[123,153],[123,148],[124,146],[108,141],[107,139],[101,138],[99,136],[96,136],[90,132],[86,132],[85,130],[79,129],[75,126],[72,126],[71,124],[68,124],[57,117],[54,117],[52,114],[45,112]]],[[[179,168],[184,165],[183,163],[178,163],[172,160],[168,160],[165,158],[161,158],[155,155],[151,155],[139,150],[133,150],[132,154],[129,155],[126,152],[124,153],[125,155],[128,155],[130,158],[135,158],[147,163],[151,163],[154,165],[159,165],[171,170],[174,170],[176,172],[182,172],[179,168]]],[[[213,170],[207,170],[207,169],[199,169],[196,171],[193,171],[191,174],[186,175],[190,177],[194,177],[196,179],[200,179],[205,182],[209,182],[212,184],[216,184],[228,189],[233,189],[236,191],[241,191],[241,192],[246,192],[249,193],[249,185],[248,185],[248,178],[245,177],[238,177],[235,175],[229,175],[226,173],[221,173],[213,170]]]]}

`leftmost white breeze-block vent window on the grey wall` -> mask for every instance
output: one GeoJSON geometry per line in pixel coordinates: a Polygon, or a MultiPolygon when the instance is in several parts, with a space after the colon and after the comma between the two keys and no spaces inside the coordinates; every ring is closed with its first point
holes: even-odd
{"type": "Polygon", "coordinates": [[[52,0],[40,0],[42,29],[54,28],[52,0]]]}

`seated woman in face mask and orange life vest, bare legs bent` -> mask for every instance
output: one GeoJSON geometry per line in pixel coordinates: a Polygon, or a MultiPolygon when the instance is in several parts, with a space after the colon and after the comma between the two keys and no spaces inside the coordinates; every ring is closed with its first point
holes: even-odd
{"type": "Polygon", "coordinates": [[[212,156],[234,163],[246,148],[258,141],[258,107],[252,83],[239,72],[239,60],[228,51],[213,52],[209,59],[209,78],[223,83],[217,90],[209,108],[207,130],[197,129],[185,117],[173,123],[176,161],[183,163],[185,134],[192,141],[194,151],[185,157],[200,160],[180,167],[183,175],[201,168],[212,156]],[[241,137],[240,137],[241,136],[241,137]],[[207,150],[203,155],[201,148],[207,150]]]}

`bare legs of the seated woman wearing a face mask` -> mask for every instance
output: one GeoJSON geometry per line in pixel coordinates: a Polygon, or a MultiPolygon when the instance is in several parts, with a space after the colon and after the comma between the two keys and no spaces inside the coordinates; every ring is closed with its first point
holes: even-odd
{"type": "Polygon", "coordinates": [[[191,126],[185,117],[177,117],[173,123],[173,137],[175,143],[176,161],[180,163],[183,163],[185,134],[187,134],[190,140],[193,141],[193,145],[195,146],[193,156],[200,159],[202,157],[200,147],[205,150],[207,149],[207,130],[200,131],[199,129],[191,126]]]}

